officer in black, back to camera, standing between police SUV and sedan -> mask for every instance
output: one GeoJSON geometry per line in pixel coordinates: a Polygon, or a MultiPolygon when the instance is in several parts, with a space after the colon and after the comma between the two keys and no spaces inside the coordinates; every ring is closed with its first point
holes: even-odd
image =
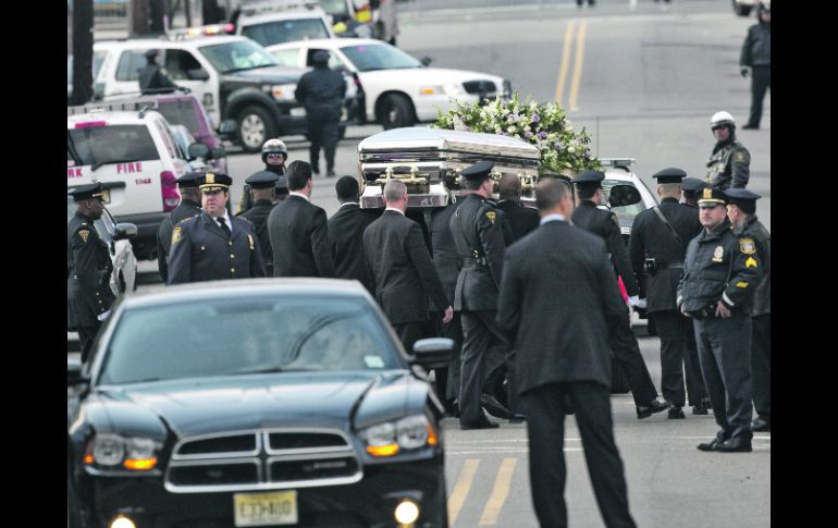
{"type": "Polygon", "coordinates": [[[326,176],[334,176],[334,151],[337,147],[341,106],[346,82],[340,72],[329,69],[329,52],[319,50],[311,57],[315,70],[297,83],[294,97],[306,107],[311,170],[320,174],[320,147],[325,157],[326,176]]]}

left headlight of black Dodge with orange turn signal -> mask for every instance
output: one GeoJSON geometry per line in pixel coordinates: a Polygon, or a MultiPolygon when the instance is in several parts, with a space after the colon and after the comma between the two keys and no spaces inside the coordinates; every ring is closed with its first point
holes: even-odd
{"type": "Polygon", "coordinates": [[[157,466],[160,447],[159,442],[147,438],[97,434],[87,444],[84,463],[104,469],[122,466],[134,471],[148,471],[157,466]]]}

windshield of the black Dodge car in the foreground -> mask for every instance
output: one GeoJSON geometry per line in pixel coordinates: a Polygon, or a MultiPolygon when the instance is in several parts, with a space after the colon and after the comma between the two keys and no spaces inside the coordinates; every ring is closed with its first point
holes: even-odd
{"type": "Polygon", "coordinates": [[[359,298],[219,295],[126,309],[115,324],[101,384],[402,368],[378,316],[359,298]]]}

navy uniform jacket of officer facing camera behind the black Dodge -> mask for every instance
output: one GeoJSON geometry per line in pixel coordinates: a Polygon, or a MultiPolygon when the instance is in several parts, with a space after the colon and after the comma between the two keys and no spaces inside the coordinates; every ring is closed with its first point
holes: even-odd
{"type": "Polygon", "coordinates": [[[172,231],[168,284],[264,277],[259,241],[249,221],[230,217],[231,235],[209,214],[177,222],[172,231]]]}

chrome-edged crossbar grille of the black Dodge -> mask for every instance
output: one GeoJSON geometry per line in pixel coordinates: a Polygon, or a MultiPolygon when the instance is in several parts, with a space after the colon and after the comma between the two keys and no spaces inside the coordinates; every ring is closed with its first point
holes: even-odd
{"type": "Polygon", "coordinates": [[[348,484],[362,476],[360,461],[343,431],[236,431],[177,442],[165,489],[206,493],[308,488],[348,484]]]}

